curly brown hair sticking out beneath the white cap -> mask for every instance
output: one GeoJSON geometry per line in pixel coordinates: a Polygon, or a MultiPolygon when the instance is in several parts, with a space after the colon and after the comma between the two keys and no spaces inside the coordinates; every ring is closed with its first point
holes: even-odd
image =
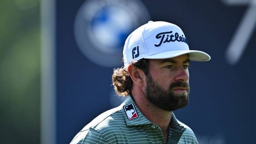
{"type": "MultiPolygon", "coordinates": [[[[138,69],[141,69],[147,76],[149,68],[148,59],[140,59],[135,63],[132,62],[132,65],[138,69]]],[[[112,75],[112,84],[115,92],[119,96],[128,96],[132,94],[133,80],[129,75],[127,67],[122,66],[121,68],[114,69],[112,75]]]]}

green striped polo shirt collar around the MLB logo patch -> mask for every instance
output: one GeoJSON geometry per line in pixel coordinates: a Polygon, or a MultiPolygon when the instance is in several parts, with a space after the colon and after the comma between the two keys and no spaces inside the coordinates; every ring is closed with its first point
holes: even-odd
{"type": "MultiPolygon", "coordinates": [[[[129,95],[127,97],[127,99],[120,105],[122,108],[122,114],[123,117],[125,119],[126,125],[127,126],[138,126],[138,125],[147,125],[147,124],[153,124],[152,122],[150,122],[139,110],[139,108],[137,107],[137,105],[135,104],[135,102],[133,101],[132,97],[129,95]],[[136,109],[137,112],[137,116],[134,119],[128,119],[128,116],[126,114],[126,111],[124,109],[124,106],[127,106],[129,104],[133,104],[134,108],[136,109]]],[[[184,131],[186,128],[184,128],[184,126],[182,125],[182,123],[180,123],[174,114],[172,114],[172,118],[171,121],[169,123],[169,128],[173,128],[173,129],[177,129],[177,130],[181,130],[184,131]]]]}

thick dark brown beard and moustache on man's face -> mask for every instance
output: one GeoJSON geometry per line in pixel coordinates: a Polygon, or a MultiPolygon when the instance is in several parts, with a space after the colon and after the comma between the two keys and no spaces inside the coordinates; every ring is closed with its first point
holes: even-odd
{"type": "Polygon", "coordinates": [[[189,100],[190,87],[187,82],[173,82],[170,84],[169,89],[164,90],[156,81],[153,81],[150,74],[147,75],[146,98],[166,111],[175,111],[187,106],[189,100]],[[186,88],[187,93],[175,93],[174,88],[186,88]]]}

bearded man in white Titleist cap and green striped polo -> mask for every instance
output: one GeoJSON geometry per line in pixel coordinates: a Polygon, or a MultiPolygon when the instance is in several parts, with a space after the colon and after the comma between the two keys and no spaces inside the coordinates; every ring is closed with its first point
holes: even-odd
{"type": "Polygon", "coordinates": [[[198,144],[173,111],[188,104],[190,60],[210,59],[189,50],[183,31],[174,24],[149,21],[134,30],[124,44],[124,67],[112,76],[116,93],[127,99],[86,125],[71,144],[198,144]]]}

